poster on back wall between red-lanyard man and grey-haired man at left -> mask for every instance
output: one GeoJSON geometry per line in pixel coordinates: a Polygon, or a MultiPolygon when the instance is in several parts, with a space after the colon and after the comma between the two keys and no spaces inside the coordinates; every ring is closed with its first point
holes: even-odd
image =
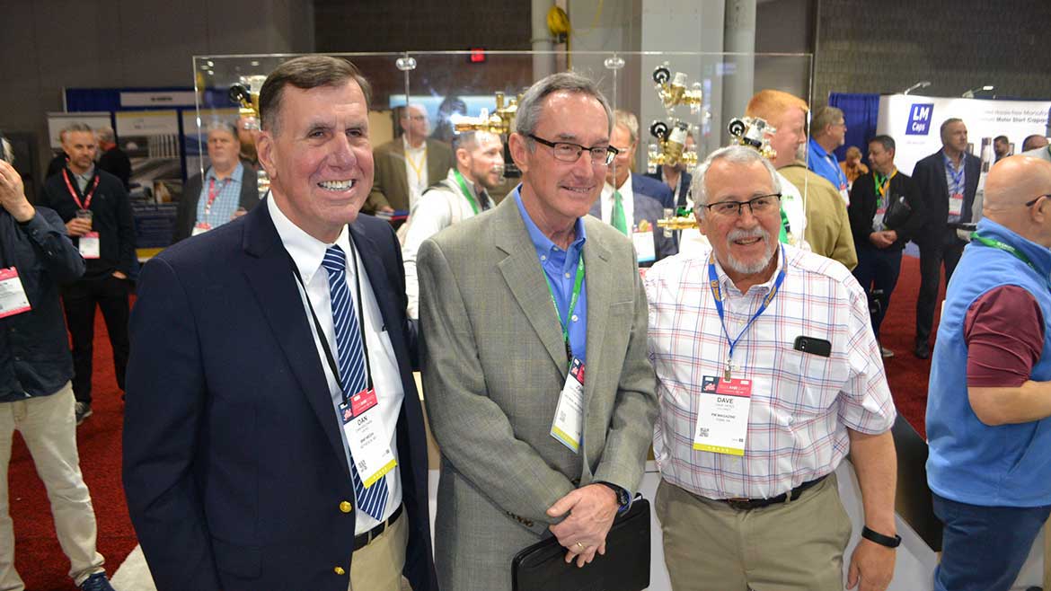
{"type": "Polygon", "coordinates": [[[140,249],[167,246],[183,191],[178,113],[119,111],[117,137],[121,149],[131,159],[136,242],[140,249]]]}

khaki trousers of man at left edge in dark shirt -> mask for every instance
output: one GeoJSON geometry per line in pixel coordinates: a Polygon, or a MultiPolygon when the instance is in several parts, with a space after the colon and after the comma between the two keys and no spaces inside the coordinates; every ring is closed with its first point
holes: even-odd
{"type": "Polygon", "coordinates": [[[15,571],[15,530],[7,503],[7,466],[16,429],[47,489],[55,532],[69,557],[69,576],[79,586],[103,569],[102,555],[95,549],[98,528],[91,495],[80,472],[73,386],[67,382],[49,396],[0,403],[0,590],[24,589],[15,571]]]}

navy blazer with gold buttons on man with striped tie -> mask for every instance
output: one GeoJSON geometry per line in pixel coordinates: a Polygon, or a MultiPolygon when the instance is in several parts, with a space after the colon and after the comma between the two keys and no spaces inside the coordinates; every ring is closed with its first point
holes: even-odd
{"type": "MultiPolygon", "coordinates": [[[[413,589],[436,591],[400,249],[390,226],[368,216],[350,235],[405,388],[396,435],[410,526],[405,574],[413,589]]],[[[124,489],[161,591],[348,587],[357,511],[339,506],[354,491],[291,265],[261,202],[143,268],[124,489]]]]}

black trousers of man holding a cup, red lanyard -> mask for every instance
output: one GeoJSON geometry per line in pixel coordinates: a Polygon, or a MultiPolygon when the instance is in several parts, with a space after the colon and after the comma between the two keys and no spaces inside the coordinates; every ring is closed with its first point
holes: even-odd
{"type": "Polygon", "coordinates": [[[91,355],[95,342],[95,308],[102,310],[114,348],[117,386],[124,390],[124,371],[128,365],[128,287],[126,279],[106,276],[82,279],[65,286],[62,305],[73,338],[73,392],[77,402],[91,404],[91,355]]]}

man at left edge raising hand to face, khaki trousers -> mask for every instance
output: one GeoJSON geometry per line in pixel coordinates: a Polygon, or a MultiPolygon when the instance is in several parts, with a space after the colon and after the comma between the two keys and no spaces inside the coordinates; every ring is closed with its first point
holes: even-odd
{"type": "Polygon", "coordinates": [[[55,530],[81,589],[112,591],[96,550],[91,495],[80,472],[73,359],[59,284],[84,260],[51,209],[25,199],[22,179],[0,160],[0,589],[24,589],[15,571],[7,465],[17,429],[44,481],[55,530]]]}

